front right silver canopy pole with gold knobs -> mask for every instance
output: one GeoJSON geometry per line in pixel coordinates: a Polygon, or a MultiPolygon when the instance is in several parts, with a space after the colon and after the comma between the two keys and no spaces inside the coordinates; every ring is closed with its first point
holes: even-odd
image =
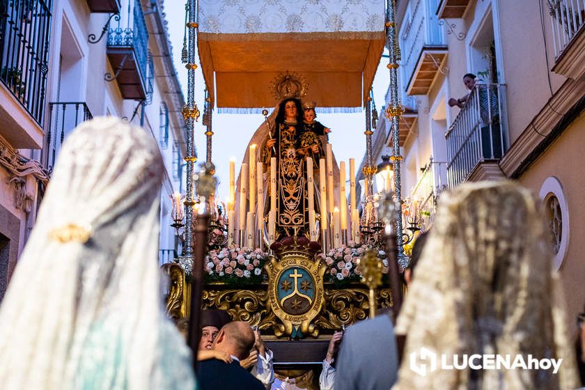
{"type": "MultiPolygon", "coordinates": [[[[387,0],[386,7],[386,36],[389,45],[389,63],[390,70],[390,103],[386,109],[386,116],[391,123],[391,132],[393,138],[393,154],[390,159],[393,162],[394,169],[394,199],[398,204],[402,204],[402,189],[400,185],[400,130],[398,129],[398,122],[400,116],[404,112],[404,107],[400,105],[400,98],[398,98],[398,61],[400,61],[400,47],[398,46],[398,33],[396,33],[396,10],[395,1],[387,0]]],[[[398,253],[398,264],[401,267],[408,265],[408,256],[404,253],[403,247],[403,226],[402,219],[396,217],[396,250],[398,253]]]]}

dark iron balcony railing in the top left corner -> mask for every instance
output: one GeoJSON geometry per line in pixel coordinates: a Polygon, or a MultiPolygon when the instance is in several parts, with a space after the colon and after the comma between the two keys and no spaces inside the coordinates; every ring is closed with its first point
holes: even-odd
{"type": "Polygon", "coordinates": [[[0,79],[42,126],[52,0],[0,1],[0,79]]]}

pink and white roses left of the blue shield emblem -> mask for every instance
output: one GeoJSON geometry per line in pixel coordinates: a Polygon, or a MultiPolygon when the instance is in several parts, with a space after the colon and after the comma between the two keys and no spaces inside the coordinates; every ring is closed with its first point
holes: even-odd
{"type": "Polygon", "coordinates": [[[212,249],[205,256],[203,270],[206,281],[233,284],[255,284],[263,280],[262,268],[268,253],[256,248],[230,247],[212,249]]]}

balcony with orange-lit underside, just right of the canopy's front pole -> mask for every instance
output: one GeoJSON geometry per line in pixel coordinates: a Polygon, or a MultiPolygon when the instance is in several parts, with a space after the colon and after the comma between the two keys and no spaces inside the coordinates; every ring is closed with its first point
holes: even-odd
{"type": "Polygon", "coordinates": [[[436,1],[412,0],[410,6],[412,12],[400,29],[402,79],[408,95],[426,95],[443,69],[446,38],[444,27],[439,26],[435,15],[436,1]]]}

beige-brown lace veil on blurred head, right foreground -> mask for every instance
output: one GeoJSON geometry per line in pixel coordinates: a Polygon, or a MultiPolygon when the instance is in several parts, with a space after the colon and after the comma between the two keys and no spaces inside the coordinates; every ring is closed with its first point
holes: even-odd
{"type": "Polygon", "coordinates": [[[393,389],[576,387],[546,232],[540,201],[514,182],[466,184],[442,196],[398,317],[396,333],[407,341],[393,389]],[[423,376],[410,368],[411,354],[420,356],[423,347],[437,356],[532,354],[563,361],[556,375],[552,369],[437,369],[423,376]]]}

